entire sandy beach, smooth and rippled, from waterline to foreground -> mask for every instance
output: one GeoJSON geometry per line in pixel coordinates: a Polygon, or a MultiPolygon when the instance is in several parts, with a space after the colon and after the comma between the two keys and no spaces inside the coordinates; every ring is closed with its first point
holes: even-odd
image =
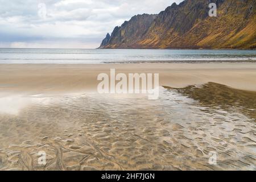
{"type": "Polygon", "coordinates": [[[0,170],[256,170],[255,74],[256,64],[0,65],[0,170]],[[160,73],[159,99],[98,94],[110,68],[160,73]]]}

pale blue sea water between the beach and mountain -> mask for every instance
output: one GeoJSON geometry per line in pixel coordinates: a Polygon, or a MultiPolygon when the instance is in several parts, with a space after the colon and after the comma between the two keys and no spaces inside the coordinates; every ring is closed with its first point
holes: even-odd
{"type": "Polygon", "coordinates": [[[0,49],[0,64],[254,62],[253,50],[0,49]]]}

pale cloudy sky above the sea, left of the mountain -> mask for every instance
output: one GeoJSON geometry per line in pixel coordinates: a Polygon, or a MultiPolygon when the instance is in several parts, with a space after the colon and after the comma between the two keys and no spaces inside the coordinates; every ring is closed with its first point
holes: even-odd
{"type": "Polygon", "coordinates": [[[137,14],[183,0],[0,0],[1,48],[97,48],[137,14]]]}

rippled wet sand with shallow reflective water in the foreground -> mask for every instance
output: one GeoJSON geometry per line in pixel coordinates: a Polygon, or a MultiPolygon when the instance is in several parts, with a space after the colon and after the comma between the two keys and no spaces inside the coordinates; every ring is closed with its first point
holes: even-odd
{"type": "Polygon", "coordinates": [[[0,113],[1,170],[256,169],[255,92],[209,83],[161,89],[155,101],[96,93],[24,99],[28,105],[0,113]],[[208,162],[212,151],[217,165],[208,162]]]}

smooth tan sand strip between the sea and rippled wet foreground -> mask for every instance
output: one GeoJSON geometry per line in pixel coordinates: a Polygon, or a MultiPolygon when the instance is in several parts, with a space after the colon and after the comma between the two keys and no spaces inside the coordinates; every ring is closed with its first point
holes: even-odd
{"type": "Polygon", "coordinates": [[[207,64],[0,64],[2,92],[84,92],[97,90],[99,73],[159,73],[160,86],[183,88],[216,82],[256,91],[255,63],[207,64]]]}

